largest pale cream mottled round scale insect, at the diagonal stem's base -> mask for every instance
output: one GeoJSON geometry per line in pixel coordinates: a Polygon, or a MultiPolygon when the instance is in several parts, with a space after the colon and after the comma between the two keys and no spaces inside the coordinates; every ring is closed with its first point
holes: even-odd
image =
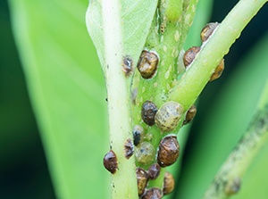
{"type": "Polygon", "coordinates": [[[172,101],[164,103],[155,114],[155,124],[162,131],[170,132],[177,128],[182,113],[181,104],[172,101]]]}

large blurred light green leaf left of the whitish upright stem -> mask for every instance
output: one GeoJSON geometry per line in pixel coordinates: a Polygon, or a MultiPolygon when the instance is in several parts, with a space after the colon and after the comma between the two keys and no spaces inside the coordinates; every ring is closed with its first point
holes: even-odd
{"type": "Polygon", "coordinates": [[[88,1],[10,5],[57,198],[106,198],[105,84],[85,28],[88,1]]]}

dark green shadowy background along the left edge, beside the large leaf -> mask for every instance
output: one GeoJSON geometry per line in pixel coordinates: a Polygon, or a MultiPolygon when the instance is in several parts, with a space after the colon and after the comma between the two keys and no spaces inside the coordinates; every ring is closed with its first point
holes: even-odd
{"type": "Polygon", "coordinates": [[[6,1],[0,1],[0,198],[54,198],[6,1]]]}

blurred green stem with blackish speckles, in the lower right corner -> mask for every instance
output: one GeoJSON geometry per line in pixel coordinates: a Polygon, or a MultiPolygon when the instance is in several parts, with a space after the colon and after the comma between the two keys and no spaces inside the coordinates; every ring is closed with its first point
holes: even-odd
{"type": "Polygon", "coordinates": [[[217,173],[204,198],[228,198],[239,191],[240,178],[260,148],[268,141],[268,104],[256,112],[251,125],[217,173]]]}

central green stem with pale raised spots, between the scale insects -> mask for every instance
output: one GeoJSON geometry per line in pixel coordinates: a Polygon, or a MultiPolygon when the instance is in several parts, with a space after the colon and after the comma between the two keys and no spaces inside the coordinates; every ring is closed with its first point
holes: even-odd
{"type": "MultiPolygon", "coordinates": [[[[195,11],[193,11],[192,8],[196,8],[197,0],[194,1],[196,4],[191,4],[191,9],[187,9],[188,16],[190,16],[188,18],[189,21],[193,20],[195,15],[195,11]]],[[[191,3],[194,1],[191,1],[191,3]]],[[[135,115],[134,124],[142,125],[145,129],[146,137],[148,137],[145,141],[150,142],[150,144],[154,146],[156,152],[161,139],[168,134],[161,133],[160,129],[156,126],[148,127],[145,123],[140,123],[141,104],[143,104],[146,100],[151,100],[158,108],[160,108],[161,105],[166,102],[169,90],[173,83],[177,80],[179,49],[183,46],[186,38],[186,36],[183,37],[184,39],[180,38],[180,27],[182,26],[183,21],[182,12],[181,0],[161,1],[161,4],[159,4],[159,8],[155,13],[155,19],[151,27],[151,32],[147,37],[147,43],[145,46],[146,49],[157,52],[160,59],[159,66],[153,79],[142,79],[139,77],[137,81],[138,97],[136,99],[135,107],[133,108],[133,113],[135,115]],[[158,29],[158,31],[155,31],[155,29],[158,29]]],[[[187,24],[187,26],[189,28],[190,25],[187,24]]],[[[178,129],[170,133],[177,134],[178,129]]],[[[146,170],[150,166],[140,164],[139,162],[136,162],[136,164],[138,167],[142,167],[146,170]]],[[[164,172],[165,169],[163,168],[161,175],[158,178],[149,181],[148,187],[162,188],[164,172]]]]}

